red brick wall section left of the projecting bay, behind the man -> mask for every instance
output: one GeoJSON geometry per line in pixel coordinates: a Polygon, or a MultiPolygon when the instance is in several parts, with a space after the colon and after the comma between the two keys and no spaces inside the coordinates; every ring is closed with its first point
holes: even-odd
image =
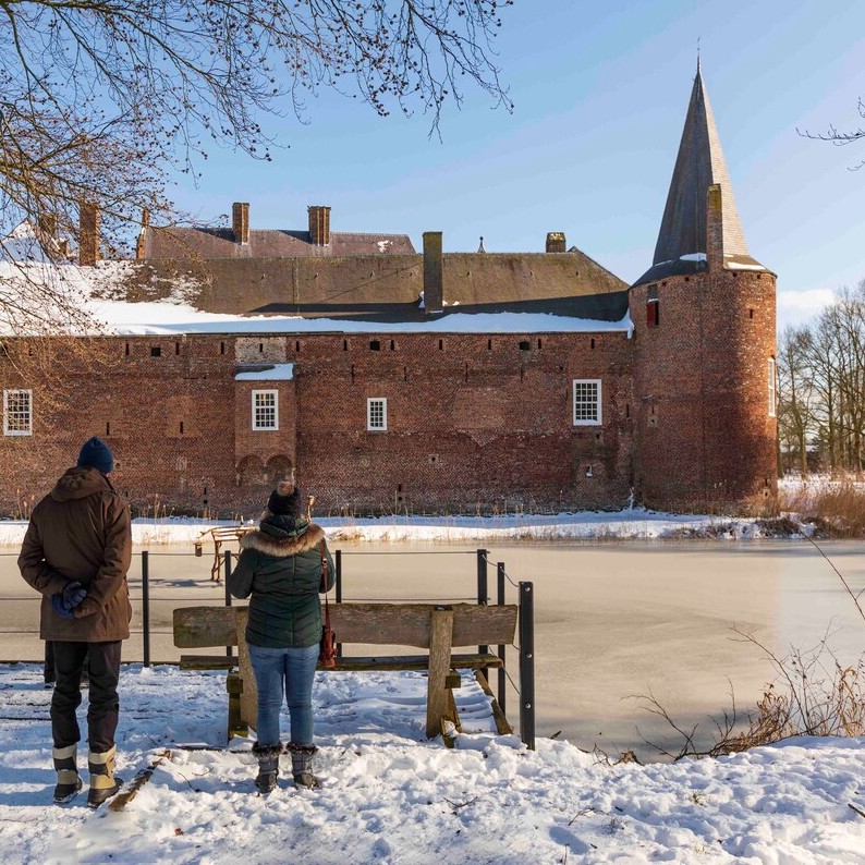
{"type": "MultiPolygon", "coordinates": [[[[34,435],[3,437],[3,492],[14,485],[38,499],[75,463],[82,442],[101,436],[114,451],[112,479],[137,508],[199,510],[216,490],[224,498],[235,474],[232,341],[95,343],[88,362],[61,344],[50,377],[33,370],[34,435]]],[[[3,495],[0,509],[10,507],[3,495]]]]}

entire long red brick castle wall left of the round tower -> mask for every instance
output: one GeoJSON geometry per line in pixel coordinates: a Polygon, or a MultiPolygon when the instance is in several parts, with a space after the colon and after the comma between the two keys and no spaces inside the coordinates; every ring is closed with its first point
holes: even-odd
{"type": "MultiPolygon", "coordinates": [[[[254,516],[296,465],[322,512],[618,508],[632,483],[632,343],[596,334],[131,337],[87,368],[58,357],[51,423],[5,438],[0,509],[38,499],[102,436],[113,480],[139,510],[254,516]],[[377,342],[378,350],[370,343],[377,342]],[[235,381],[237,363],[295,377],[235,381]],[[572,423],[574,378],[602,381],[604,425],[572,423]],[[62,387],[58,387],[61,386],[62,387]],[[251,392],[279,391],[277,431],[251,429],[251,392]],[[388,401],[367,431],[368,397],[388,401]]],[[[60,350],[62,354],[62,349],[60,350]]],[[[3,387],[16,387],[11,365],[3,387]]]]}

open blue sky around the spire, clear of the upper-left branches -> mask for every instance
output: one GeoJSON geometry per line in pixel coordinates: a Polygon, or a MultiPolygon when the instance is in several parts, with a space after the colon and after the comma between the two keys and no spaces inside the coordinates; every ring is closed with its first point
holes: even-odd
{"type": "Polygon", "coordinates": [[[336,231],[442,231],[446,252],[541,252],[548,231],[636,279],[650,264],[696,66],[752,255],[778,273],[779,325],[809,320],[865,279],[862,0],[516,0],[497,39],[514,110],[468,89],[429,119],[309,97],[305,123],[265,119],[289,145],[270,163],[211,151],[176,204],[202,218],[249,202],[253,228],[304,229],[329,205],[336,231]]]}

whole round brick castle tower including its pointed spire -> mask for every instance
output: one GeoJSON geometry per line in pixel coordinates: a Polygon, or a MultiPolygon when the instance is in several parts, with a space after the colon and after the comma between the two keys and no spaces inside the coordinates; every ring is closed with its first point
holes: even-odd
{"type": "Polygon", "coordinates": [[[697,64],[655,260],[629,293],[637,501],[773,508],[775,282],[748,253],[697,64]]]}

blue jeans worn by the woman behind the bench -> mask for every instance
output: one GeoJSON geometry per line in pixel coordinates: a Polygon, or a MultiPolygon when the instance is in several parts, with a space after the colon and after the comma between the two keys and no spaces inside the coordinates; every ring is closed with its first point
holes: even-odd
{"type": "Polygon", "coordinates": [[[318,643],[303,648],[249,646],[249,660],[258,685],[258,744],[278,745],[279,712],[285,703],[291,718],[291,743],[313,744],[313,680],[318,643]]]}

